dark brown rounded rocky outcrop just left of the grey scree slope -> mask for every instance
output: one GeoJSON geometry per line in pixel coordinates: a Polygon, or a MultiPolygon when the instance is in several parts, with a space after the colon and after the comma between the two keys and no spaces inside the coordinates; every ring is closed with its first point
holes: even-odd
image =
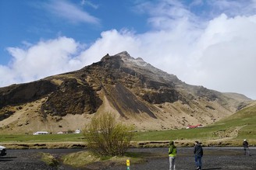
{"type": "Polygon", "coordinates": [[[52,92],[41,106],[43,115],[66,116],[67,114],[95,113],[102,101],[87,82],[79,83],[69,78],[52,92]]]}

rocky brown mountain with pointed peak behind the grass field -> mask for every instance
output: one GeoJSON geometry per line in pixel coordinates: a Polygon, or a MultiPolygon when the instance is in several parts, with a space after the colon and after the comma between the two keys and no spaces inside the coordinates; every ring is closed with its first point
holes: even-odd
{"type": "Polygon", "coordinates": [[[124,51],[78,71],[0,88],[0,131],[83,129],[92,116],[107,112],[138,130],[178,129],[214,123],[251,102],[187,85],[124,51]]]}

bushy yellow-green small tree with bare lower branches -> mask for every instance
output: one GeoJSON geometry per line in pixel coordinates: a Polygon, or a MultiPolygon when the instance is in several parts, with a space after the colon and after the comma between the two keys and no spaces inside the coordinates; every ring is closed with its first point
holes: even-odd
{"type": "Polygon", "coordinates": [[[94,116],[84,129],[88,147],[101,155],[123,155],[134,136],[134,127],[118,123],[111,113],[94,116]]]}

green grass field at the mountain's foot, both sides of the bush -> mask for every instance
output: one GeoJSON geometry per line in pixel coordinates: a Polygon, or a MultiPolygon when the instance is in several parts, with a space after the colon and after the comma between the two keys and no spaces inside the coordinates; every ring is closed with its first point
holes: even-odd
{"type": "MultiPolygon", "coordinates": [[[[225,137],[233,140],[256,138],[256,105],[247,107],[224,120],[207,127],[182,130],[163,130],[137,132],[133,141],[208,141],[225,137]]],[[[41,143],[41,142],[83,142],[83,134],[11,135],[2,134],[4,143],[41,143]]]]}

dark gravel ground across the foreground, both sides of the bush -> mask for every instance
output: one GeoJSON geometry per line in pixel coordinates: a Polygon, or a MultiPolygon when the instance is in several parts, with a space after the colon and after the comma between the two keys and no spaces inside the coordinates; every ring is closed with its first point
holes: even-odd
{"type": "MultiPolygon", "coordinates": [[[[40,150],[8,150],[5,157],[0,157],[0,169],[12,169],[12,170],[52,170],[52,169],[85,169],[85,168],[71,168],[65,165],[60,165],[58,168],[54,168],[45,165],[40,160],[38,152],[47,152],[59,158],[62,154],[68,154],[71,152],[81,151],[83,149],[40,149],[40,150]]],[[[132,148],[130,151],[134,152],[149,152],[149,153],[167,153],[168,148],[132,148]]],[[[256,169],[256,147],[251,147],[252,156],[245,156],[242,147],[204,147],[203,157],[203,169],[204,170],[244,170],[244,169],[256,169]]],[[[143,164],[135,165],[130,162],[130,170],[168,170],[169,158],[147,158],[147,161],[143,164]]],[[[118,167],[101,167],[102,170],[126,170],[126,162],[123,166],[118,167]]],[[[194,155],[193,148],[178,147],[178,154],[176,158],[176,170],[193,170],[194,155]]]]}

